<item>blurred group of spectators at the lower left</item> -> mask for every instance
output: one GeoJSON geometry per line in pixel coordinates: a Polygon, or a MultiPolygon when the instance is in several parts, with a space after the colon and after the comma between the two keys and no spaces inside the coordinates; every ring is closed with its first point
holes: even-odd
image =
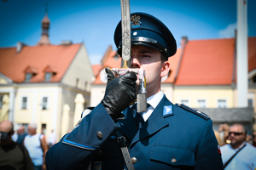
{"type": "Polygon", "coordinates": [[[30,123],[27,132],[24,126],[16,130],[9,121],[0,122],[0,169],[45,170],[45,156],[55,144],[52,131],[46,140],[44,133],[37,133],[37,124],[30,123]]]}

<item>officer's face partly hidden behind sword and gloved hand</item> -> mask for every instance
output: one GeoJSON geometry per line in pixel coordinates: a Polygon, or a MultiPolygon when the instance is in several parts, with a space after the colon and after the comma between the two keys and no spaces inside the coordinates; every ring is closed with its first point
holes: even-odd
{"type": "Polygon", "coordinates": [[[161,61],[160,51],[147,46],[132,45],[131,68],[143,68],[146,71],[147,93],[150,97],[160,92],[161,77],[168,74],[170,64],[168,61],[161,61]]]}

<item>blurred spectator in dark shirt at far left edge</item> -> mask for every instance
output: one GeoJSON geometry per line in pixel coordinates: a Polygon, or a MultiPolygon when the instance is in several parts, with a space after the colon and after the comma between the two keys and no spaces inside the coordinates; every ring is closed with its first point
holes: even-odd
{"type": "Polygon", "coordinates": [[[33,170],[28,151],[22,144],[16,144],[12,140],[13,133],[14,125],[12,122],[3,121],[0,123],[0,169],[33,170]]]}

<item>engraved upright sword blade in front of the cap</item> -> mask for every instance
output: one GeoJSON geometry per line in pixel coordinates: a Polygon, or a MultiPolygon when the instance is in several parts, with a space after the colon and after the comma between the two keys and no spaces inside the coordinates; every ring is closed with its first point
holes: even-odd
{"type": "Polygon", "coordinates": [[[131,65],[131,12],[130,1],[121,1],[122,14],[122,62],[121,68],[129,68],[131,65]]]}

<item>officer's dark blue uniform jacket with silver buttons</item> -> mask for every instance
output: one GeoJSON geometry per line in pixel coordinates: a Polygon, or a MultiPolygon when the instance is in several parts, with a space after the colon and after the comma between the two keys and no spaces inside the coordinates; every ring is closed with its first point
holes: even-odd
{"type": "Polygon", "coordinates": [[[131,109],[123,113],[125,119],[114,123],[103,105],[97,105],[49,149],[47,170],[88,166],[123,170],[117,129],[124,134],[131,157],[137,159],[135,169],[223,169],[212,120],[200,111],[173,105],[164,96],[139,131],[131,109]]]}

